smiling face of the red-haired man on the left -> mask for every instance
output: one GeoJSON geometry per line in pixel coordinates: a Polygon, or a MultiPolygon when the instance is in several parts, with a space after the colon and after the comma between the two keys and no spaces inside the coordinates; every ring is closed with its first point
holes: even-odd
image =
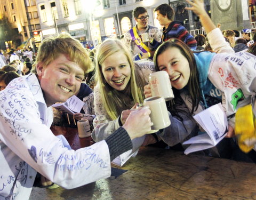
{"type": "Polygon", "coordinates": [[[83,69],[63,54],[46,67],[38,63],[36,71],[47,106],[65,102],[77,93],[84,79],[83,69]]]}

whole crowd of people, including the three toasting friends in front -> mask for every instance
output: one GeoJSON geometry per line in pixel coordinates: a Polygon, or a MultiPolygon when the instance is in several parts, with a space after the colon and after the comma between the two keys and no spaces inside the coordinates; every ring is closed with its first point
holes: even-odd
{"type": "Polygon", "coordinates": [[[249,153],[241,151],[234,131],[237,109],[254,106],[256,31],[221,31],[203,1],[187,2],[185,9],[198,15],[206,35],[190,35],[174,20],[172,7],[162,4],[155,12],[163,30],[148,25],[147,10],[136,7],[136,25],[122,39],[107,39],[92,50],[60,34],[44,39],[36,54],[1,53],[0,199],[28,199],[37,173],[47,187],[107,178],[111,161],[133,149],[135,139],[140,146],[185,150],[184,141],[205,132],[193,116],[217,103],[229,116],[227,136],[197,154],[256,162],[254,145],[249,153]],[[149,40],[143,42],[145,33],[149,40]],[[138,105],[152,96],[147,75],[154,71],[167,72],[174,99],[166,101],[171,125],[149,134],[150,110],[138,105]],[[51,107],[73,95],[84,102],[79,113],[51,107]],[[95,143],[75,151],[50,126],[77,127],[80,119],[90,122],[95,143]]]}

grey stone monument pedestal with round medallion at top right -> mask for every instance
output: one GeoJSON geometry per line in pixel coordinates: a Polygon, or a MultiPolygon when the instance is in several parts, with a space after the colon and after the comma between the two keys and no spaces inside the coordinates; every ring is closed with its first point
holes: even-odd
{"type": "Polygon", "coordinates": [[[252,28],[247,0],[212,0],[211,19],[221,30],[252,28]]]}

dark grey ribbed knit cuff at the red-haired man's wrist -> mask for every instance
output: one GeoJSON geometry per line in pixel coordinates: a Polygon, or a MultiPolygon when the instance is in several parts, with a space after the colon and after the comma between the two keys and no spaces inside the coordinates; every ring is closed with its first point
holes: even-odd
{"type": "Polygon", "coordinates": [[[109,135],[105,141],[108,145],[111,161],[113,161],[115,157],[132,149],[131,138],[123,127],[119,127],[119,129],[109,135]]]}

